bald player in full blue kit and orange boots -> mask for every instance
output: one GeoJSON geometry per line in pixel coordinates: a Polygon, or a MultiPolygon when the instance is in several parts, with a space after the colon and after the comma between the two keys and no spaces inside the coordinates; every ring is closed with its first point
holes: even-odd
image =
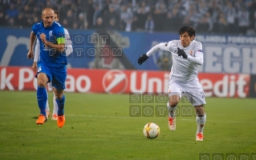
{"type": "Polygon", "coordinates": [[[30,33],[30,50],[27,58],[33,58],[35,39],[40,42],[40,55],[37,70],[37,100],[40,114],[36,124],[43,125],[47,122],[47,83],[51,82],[58,104],[57,126],[62,127],[65,123],[64,103],[65,95],[63,90],[67,78],[67,58],[65,54],[65,34],[63,26],[54,21],[55,12],[47,7],[42,11],[42,22],[32,26],[30,33]]]}

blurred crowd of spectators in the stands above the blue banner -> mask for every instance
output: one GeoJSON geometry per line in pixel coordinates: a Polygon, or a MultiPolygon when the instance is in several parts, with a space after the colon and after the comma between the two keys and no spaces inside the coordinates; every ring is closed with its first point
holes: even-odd
{"type": "Polygon", "coordinates": [[[46,6],[67,29],[256,33],[256,0],[0,0],[0,26],[30,28],[46,6]]]}

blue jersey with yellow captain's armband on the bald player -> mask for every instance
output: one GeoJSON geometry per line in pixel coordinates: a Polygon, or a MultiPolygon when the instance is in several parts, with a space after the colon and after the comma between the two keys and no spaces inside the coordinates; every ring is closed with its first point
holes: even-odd
{"type": "Polygon", "coordinates": [[[46,63],[48,66],[59,67],[67,65],[67,57],[65,51],[63,53],[58,52],[55,48],[51,48],[43,44],[40,34],[46,34],[48,42],[59,44],[65,43],[64,28],[59,22],[53,22],[51,26],[44,27],[43,22],[36,23],[32,26],[32,31],[37,36],[40,42],[40,54],[39,61],[46,63]]]}

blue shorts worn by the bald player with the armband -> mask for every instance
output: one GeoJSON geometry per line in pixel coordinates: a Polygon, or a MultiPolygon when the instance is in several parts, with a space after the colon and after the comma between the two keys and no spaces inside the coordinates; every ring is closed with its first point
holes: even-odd
{"type": "MultiPolygon", "coordinates": [[[[38,63],[38,72],[47,74],[48,82],[51,82],[51,86],[54,86],[57,90],[64,90],[65,81],[67,79],[67,68],[66,66],[51,67],[45,63],[38,63]]],[[[35,76],[37,78],[37,75],[35,76]]],[[[47,82],[47,83],[48,83],[47,82]]]]}

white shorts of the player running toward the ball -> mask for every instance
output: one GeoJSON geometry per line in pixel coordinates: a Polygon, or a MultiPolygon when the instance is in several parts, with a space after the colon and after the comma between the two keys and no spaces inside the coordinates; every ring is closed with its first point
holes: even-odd
{"type": "Polygon", "coordinates": [[[179,95],[181,98],[185,95],[193,106],[206,104],[204,90],[202,89],[201,84],[197,80],[183,83],[170,79],[168,92],[169,97],[171,95],[179,95]]]}

